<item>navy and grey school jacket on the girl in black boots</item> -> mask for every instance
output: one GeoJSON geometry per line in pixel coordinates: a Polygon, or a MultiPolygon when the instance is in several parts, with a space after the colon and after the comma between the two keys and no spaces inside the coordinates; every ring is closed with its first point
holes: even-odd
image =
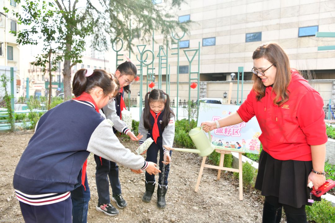
{"type": "MultiPolygon", "coordinates": [[[[152,138],[152,129],[145,129],[144,128],[143,111],[144,110],[142,110],[140,123],[138,125],[138,132],[143,135],[142,139],[139,141],[139,144],[142,144],[147,139],[148,135],[150,135],[150,137],[152,138]]],[[[161,140],[162,140],[161,143],[162,144],[160,146],[167,145],[167,146],[172,147],[173,141],[174,141],[174,138],[175,138],[175,117],[171,114],[169,124],[164,128],[164,131],[162,131],[159,121],[161,120],[163,114],[164,114],[164,110],[160,113],[160,115],[157,119],[157,125],[158,125],[158,130],[159,130],[159,137],[157,138],[157,144],[160,144],[159,141],[160,141],[160,138],[161,138],[161,140]]],[[[150,124],[151,124],[151,126],[153,126],[153,124],[154,124],[154,119],[153,119],[151,114],[150,114],[150,124]]],[[[155,143],[155,142],[153,142],[153,143],[155,143]]],[[[169,152],[164,147],[163,147],[163,151],[164,152],[169,152]]]]}

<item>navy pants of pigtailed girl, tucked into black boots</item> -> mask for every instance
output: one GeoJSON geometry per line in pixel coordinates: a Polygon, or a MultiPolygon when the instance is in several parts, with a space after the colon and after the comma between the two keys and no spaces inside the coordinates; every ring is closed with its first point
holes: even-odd
{"type": "MultiPolygon", "coordinates": [[[[170,172],[170,163],[165,165],[164,182],[162,182],[162,173],[163,173],[163,165],[164,165],[162,163],[162,161],[164,161],[163,147],[153,142],[147,150],[147,157],[145,161],[150,161],[150,162],[154,162],[157,164],[158,151],[159,151],[159,170],[161,171],[161,173],[159,173],[158,184],[167,186],[167,178],[169,177],[169,172],[170,172]]],[[[170,156],[171,155],[172,155],[172,151],[170,151],[170,156]]],[[[145,180],[146,182],[154,182],[155,175],[150,175],[147,172],[145,172],[145,180]]]]}

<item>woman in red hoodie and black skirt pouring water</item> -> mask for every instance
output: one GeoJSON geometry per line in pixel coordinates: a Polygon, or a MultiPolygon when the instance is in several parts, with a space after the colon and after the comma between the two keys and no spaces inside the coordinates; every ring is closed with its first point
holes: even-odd
{"type": "Polygon", "coordinates": [[[323,99],[290,68],[278,44],[259,46],[252,58],[254,85],[245,102],[237,112],[201,126],[208,132],[256,116],[263,150],[255,188],[265,196],[263,222],[280,222],[284,208],[288,223],[306,223],[305,205],[312,205],[307,185],[312,181],[318,189],[326,181],[323,99]]]}

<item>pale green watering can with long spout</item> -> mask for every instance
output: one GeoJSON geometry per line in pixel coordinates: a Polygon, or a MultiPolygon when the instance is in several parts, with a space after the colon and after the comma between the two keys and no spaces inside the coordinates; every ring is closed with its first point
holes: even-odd
{"type": "Polygon", "coordinates": [[[202,127],[195,127],[194,129],[191,129],[189,136],[191,137],[197,149],[172,148],[166,145],[164,145],[164,148],[172,151],[175,150],[181,152],[198,153],[201,157],[208,156],[214,151],[215,148],[215,146],[212,144],[212,137],[210,132],[208,132],[208,135],[209,139],[207,138],[205,131],[202,130],[202,127]]]}

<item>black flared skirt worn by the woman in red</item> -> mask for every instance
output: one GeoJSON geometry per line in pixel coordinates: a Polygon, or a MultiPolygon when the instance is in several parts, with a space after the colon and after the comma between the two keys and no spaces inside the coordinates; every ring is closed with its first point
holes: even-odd
{"type": "MultiPolygon", "coordinates": [[[[255,188],[263,196],[274,196],[279,203],[300,208],[308,202],[312,189],[307,187],[312,161],[278,160],[262,150],[255,188]]],[[[321,201],[312,195],[314,201],[321,201]]]]}

